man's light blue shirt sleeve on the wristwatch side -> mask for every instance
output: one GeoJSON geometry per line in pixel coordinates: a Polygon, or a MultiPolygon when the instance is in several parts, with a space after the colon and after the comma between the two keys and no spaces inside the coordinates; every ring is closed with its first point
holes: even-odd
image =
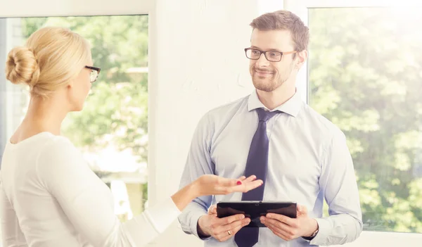
{"type": "Polygon", "coordinates": [[[330,246],[357,239],[363,227],[362,211],[352,157],[340,129],[326,148],[319,186],[330,216],[316,219],[319,232],[310,243],[330,246]]]}

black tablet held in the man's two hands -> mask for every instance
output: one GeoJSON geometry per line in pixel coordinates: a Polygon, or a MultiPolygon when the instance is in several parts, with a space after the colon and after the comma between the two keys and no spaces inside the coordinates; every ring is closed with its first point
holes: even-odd
{"type": "Polygon", "coordinates": [[[245,227],[266,227],[260,217],[267,213],[296,217],[296,203],[288,201],[222,201],[217,203],[217,217],[243,214],[250,218],[245,227]]]}

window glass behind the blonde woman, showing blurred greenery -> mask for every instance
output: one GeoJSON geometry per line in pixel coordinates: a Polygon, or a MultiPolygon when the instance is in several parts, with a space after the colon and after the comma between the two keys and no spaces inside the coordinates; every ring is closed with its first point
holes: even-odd
{"type": "MultiPolygon", "coordinates": [[[[8,51],[44,26],[69,27],[91,43],[94,66],[101,73],[84,110],[70,113],[63,122],[62,134],[110,186],[116,215],[129,220],[143,211],[148,196],[148,15],[0,19],[0,34],[5,34],[0,35],[1,68],[8,51]]],[[[29,94],[21,86],[0,82],[3,148],[25,115],[29,94]]]]}

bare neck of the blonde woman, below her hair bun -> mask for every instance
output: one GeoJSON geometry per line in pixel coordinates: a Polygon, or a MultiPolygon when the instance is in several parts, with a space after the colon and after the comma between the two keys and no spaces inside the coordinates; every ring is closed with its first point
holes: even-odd
{"type": "Polygon", "coordinates": [[[61,125],[67,114],[68,110],[60,103],[58,96],[51,96],[49,99],[31,97],[27,115],[21,126],[28,129],[28,132],[51,132],[60,135],[61,125]]]}

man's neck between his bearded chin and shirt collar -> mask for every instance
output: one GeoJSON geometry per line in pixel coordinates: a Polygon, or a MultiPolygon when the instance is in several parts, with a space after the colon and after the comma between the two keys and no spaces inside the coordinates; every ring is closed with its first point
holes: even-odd
{"type": "Polygon", "coordinates": [[[258,99],[269,110],[277,108],[286,103],[293,95],[295,95],[296,87],[294,83],[284,82],[274,91],[261,91],[257,89],[258,99]]]}

